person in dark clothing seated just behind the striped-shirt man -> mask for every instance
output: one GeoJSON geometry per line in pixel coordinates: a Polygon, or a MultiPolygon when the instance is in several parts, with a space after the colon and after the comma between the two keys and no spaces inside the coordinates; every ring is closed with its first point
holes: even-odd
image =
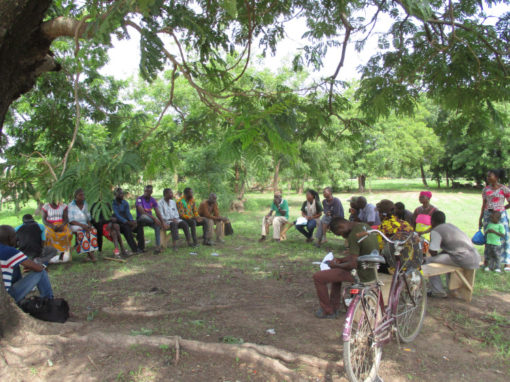
{"type": "Polygon", "coordinates": [[[17,226],[16,239],[18,248],[32,260],[35,258],[44,259],[48,263],[50,259],[58,256],[58,251],[53,247],[45,247],[45,227],[37,223],[30,214],[23,215],[23,224],[17,226]]]}

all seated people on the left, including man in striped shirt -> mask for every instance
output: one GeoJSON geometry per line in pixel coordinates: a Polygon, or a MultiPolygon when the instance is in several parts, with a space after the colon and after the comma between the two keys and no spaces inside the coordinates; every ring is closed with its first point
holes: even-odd
{"type": "Polygon", "coordinates": [[[217,241],[224,241],[225,225],[230,222],[220,215],[214,193],[197,207],[193,190],[189,187],[184,189],[177,201],[170,188],[163,190],[163,198],[159,202],[152,197],[152,192],[152,186],[148,185],[143,195],[136,198],[136,219],[131,214],[121,188],[114,192],[109,218],[105,219],[101,213],[97,220],[92,218],[97,204],[89,208],[83,190],[78,189],[69,205],[52,201],[42,207],[44,225],[27,214],[23,216],[23,224],[16,228],[0,226],[0,264],[7,292],[17,303],[34,287],[39,289],[41,297],[53,298],[46,266],[50,262],[71,260],[73,234],[76,252],[86,254],[92,261],[96,260],[94,253],[102,249],[103,236],[114,243],[115,257],[120,258],[121,253],[128,254],[121,235],[125,237],[132,252],[145,252],[145,226],[154,229],[154,253],[160,253],[162,248],[167,247],[168,231],[172,236],[173,249],[176,250],[179,229],[183,230],[186,242],[191,247],[198,246],[197,226],[203,227],[205,245],[213,244],[213,231],[217,241]],[[22,277],[20,265],[32,272],[22,277]]]}

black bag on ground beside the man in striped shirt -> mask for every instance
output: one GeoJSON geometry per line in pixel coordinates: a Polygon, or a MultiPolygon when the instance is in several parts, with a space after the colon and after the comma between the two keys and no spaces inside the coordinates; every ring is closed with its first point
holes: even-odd
{"type": "Polygon", "coordinates": [[[43,321],[64,323],[69,318],[69,304],[63,298],[32,296],[22,300],[19,306],[25,313],[43,321]]]}

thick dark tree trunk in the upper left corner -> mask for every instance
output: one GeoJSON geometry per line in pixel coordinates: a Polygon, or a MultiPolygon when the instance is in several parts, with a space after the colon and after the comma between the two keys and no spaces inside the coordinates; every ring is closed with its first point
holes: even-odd
{"type": "Polygon", "coordinates": [[[41,31],[51,0],[0,2],[0,128],[9,105],[29,91],[43,72],[58,70],[52,39],[41,31]]]}

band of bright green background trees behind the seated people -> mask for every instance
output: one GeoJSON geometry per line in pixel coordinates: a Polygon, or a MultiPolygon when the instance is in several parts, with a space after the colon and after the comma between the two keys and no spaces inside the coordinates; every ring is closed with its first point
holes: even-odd
{"type": "Polygon", "coordinates": [[[152,82],[102,76],[106,50],[92,45],[82,49],[80,126],[65,159],[77,112],[70,74],[76,61],[71,42],[54,49],[65,69],[41,76],[4,123],[10,143],[0,191],[16,203],[69,200],[77,187],[89,200],[109,200],[115,186],[138,193],[155,183],[191,186],[201,197],[214,191],[229,205],[248,189],[345,190],[357,178],[364,191],[374,177],[480,183],[488,167],[509,167],[505,102],[467,118],[423,94],[411,115],[393,110],[370,121],[356,99],[360,84],[352,82],[337,97],[339,118],[323,112],[324,89],[300,94],[304,69],[247,68],[237,95],[219,103],[236,114],[217,113],[172,70],[152,82]],[[169,94],[172,109],[163,114],[169,94]]]}

